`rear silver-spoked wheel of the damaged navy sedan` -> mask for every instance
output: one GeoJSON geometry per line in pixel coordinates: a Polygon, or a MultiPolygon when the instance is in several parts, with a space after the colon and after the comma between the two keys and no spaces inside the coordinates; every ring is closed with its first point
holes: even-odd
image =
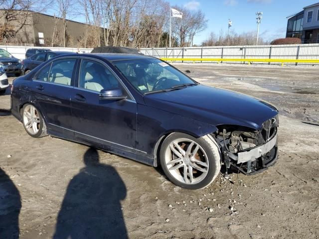
{"type": "Polygon", "coordinates": [[[33,105],[25,104],[23,106],[21,118],[24,129],[30,136],[40,138],[47,135],[43,117],[33,105]]]}

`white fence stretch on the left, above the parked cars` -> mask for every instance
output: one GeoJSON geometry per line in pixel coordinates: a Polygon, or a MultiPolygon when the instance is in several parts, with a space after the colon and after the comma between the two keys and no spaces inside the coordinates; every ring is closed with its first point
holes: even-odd
{"type": "Polygon", "coordinates": [[[25,59],[25,52],[27,49],[50,49],[52,51],[70,51],[70,52],[79,52],[79,53],[89,53],[92,51],[92,48],[71,48],[71,47],[32,47],[32,46],[0,46],[0,48],[8,51],[14,57],[23,60],[25,59]]]}

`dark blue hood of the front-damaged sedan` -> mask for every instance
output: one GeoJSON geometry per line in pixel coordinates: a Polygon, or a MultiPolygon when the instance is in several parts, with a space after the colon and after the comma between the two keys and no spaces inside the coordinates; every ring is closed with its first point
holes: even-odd
{"type": "Polygon", "coordinates": [[[275,107],[240,93],[204,85],[149,94],[147,106],[212,125],[236,124],[254,129],[278,114],[275,107]]]}

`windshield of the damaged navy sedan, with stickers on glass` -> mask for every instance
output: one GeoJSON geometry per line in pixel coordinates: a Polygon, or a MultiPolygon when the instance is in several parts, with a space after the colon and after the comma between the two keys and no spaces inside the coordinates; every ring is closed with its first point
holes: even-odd
{"type": "Polygon", "coordinates": [[[113,64],[141,93],[176,90],[197,83],[159,59],[113,61],[113,64]]]}

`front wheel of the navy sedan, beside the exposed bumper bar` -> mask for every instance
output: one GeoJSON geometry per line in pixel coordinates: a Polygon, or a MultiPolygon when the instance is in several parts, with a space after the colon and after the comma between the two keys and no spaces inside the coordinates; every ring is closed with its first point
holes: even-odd
{"type": "Polygon", "coordinates": [[[219,148],[207,135],[195,138],[185,133],[171,133],[160,147],[160,165],[175,185],[186,189],[205,188],[220,171],[219,148]]]}

